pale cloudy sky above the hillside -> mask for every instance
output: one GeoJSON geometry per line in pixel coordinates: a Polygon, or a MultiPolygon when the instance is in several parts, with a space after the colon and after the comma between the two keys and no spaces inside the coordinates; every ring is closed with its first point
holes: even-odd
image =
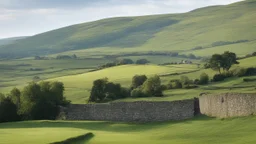
{"type": "Polygon", "coordinates": [[[0,0],[0,38],[31,36],[103,18],[183,13],[241,0],[0,0]]]}

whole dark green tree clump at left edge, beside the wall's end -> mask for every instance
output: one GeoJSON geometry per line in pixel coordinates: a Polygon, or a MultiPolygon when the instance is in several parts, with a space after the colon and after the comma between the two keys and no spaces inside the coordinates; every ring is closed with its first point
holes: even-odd
{"type": "Polygon", "coordinates": [[[14,88],[7,95],[0,94],[0,122],[54,120],[59,107],[70,103],[63,93],[61,82],[31,82],[22,90],[14,88]]]}

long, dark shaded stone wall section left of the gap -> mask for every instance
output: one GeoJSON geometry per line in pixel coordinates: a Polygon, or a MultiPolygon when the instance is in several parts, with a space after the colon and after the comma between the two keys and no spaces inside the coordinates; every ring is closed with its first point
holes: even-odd
{"type": "Polygon", "coordinates": [[[65,113],[66,120],[124,122],[184,120],[194,116],[194,100],[72,104],[66,109],[65,113]]]}

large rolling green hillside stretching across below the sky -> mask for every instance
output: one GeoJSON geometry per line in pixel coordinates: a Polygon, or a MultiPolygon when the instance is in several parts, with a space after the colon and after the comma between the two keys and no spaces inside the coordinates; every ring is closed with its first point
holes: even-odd
{"type": "Polygon", "coordinates": [[[91,48],[112,52],[177,51],[200,56],[230,50],[246,55],[256,50],[255,7],[256,0],[246,0],[183,14],[83,23],[1,46],[0,57],[27,57],[71,50],[75,53],[74,50],[91,48]]]}

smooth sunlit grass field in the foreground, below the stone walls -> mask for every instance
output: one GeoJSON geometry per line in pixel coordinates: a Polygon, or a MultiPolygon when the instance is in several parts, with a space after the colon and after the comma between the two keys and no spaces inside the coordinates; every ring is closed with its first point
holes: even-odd
{"type": "Polygon", "coordinates": [[[256,117],[127,124],[90,121],[30,121],[0,124],[2,144],[47,144],[92,132],[86,144],[252,144],[256,117]],[[47,138],[46,138],[47,137],[47,138]]]}

